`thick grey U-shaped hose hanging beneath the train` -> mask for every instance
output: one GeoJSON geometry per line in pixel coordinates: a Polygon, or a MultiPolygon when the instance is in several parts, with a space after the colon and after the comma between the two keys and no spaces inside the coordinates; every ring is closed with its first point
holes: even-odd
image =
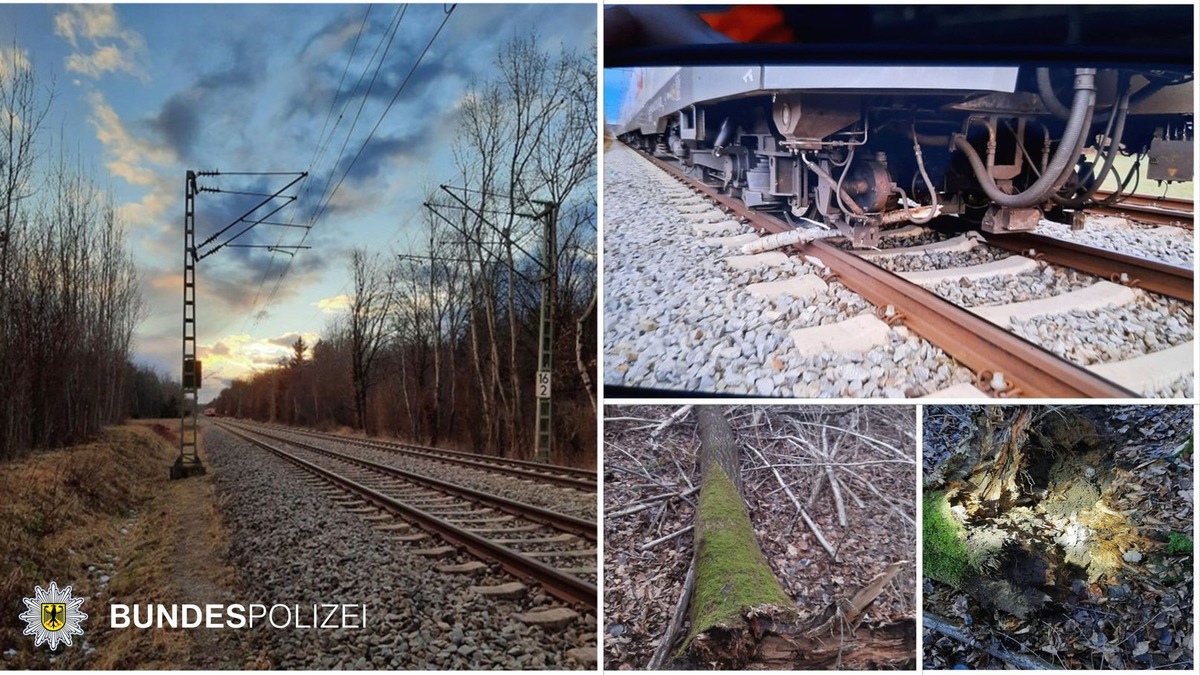
{"type": "Polygon", "coordinates": [[[1001,207],[1020,208],[1032,207],[1043,202],[1052,192],[1057,191],[1067,180],[1067,169],[1075,165],[1080,143],[1086,138],[1086,130],[1091,125],[1092,110],[1096,107],[1096,68],[1075,70],[1075,98],[1070,107],[1070,119],[1067,120],[1067,129],[1063,131],[1058,150],[1050,160],[1050,165],[1042,177],[1028,189],[1015,195],[1007,195],[1000,190],[996,181],[988,173],[979,154],[971,147],[966,137],[961,133],[954,137],[954,148],[961,150],[971,162],[971,168],[979,180],[979,186],[988,197],[1001,207]]]}

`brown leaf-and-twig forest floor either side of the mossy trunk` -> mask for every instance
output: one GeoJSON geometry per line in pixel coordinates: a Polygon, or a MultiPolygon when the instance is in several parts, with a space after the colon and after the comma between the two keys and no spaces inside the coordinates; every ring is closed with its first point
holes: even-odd
{"type": "MultiPolygon", "coordinates": [[[[647,667],[676,614],[691,563],[700,441],[694,414],[672,419],[679,410],[605,407],[606,670],[647,667]]],[[[912,620],[914,408],[738,406],[728,418],[743,447],[742,477],[758,545],[794,599],[800,622],[901,561],[864,622],[912,620]]],[[[686,632],[685,622],[679,633],[686,632]]],[[[703,664],[668,658],[662,665],[682,667],[703,664]]]]}

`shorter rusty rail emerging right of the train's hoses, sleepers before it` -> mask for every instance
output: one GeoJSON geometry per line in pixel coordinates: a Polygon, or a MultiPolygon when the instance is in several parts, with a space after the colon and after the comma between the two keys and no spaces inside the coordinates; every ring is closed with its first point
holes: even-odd
{"type": "Polygon", "coordinates": [[[1046,262],[1112,279],[1126,274],[1128,285],[1136,286],[1178,300],[1193,301],[1195,275],[1193,270],[1158,261],[1135,258],[1116,251],[1063,241],[1040,234],[984,235],[988,244],[1007,251],[1034,251],[1046,262]]]}

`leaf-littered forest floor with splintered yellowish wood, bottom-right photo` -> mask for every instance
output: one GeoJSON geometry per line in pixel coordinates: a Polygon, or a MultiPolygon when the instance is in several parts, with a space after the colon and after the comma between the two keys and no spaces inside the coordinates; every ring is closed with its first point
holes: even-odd
{"type": "Polygon", "coordinates": [[[1192,669],[1192,407],[1033,407],[980,500],[1014,410],[925,410],[925,668],[1192,669]]]}

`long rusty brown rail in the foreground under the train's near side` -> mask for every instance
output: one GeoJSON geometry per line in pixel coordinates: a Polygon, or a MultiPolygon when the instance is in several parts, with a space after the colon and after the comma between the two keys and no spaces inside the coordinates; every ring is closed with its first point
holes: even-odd
{"type": "MultiPolygon", "coordinates": [[[[652,163],[692,190],[713,199],[751,227],[772,234],[793,229],[787,223],[754,211],[716,189],[686,177],[679,169],[646,154],[652,163]]],[[[1090,370],[1058,358],[1045,348],[1008,331],[943,298],[887,271],[852,252],[823,240],[791,246],[821,259],[838,281],[876,306],[895,307],[905,324],[976,372],[992,371],[1022,396],[1049,399],[1135,399],[1139,394],[1090,370]]]]}

